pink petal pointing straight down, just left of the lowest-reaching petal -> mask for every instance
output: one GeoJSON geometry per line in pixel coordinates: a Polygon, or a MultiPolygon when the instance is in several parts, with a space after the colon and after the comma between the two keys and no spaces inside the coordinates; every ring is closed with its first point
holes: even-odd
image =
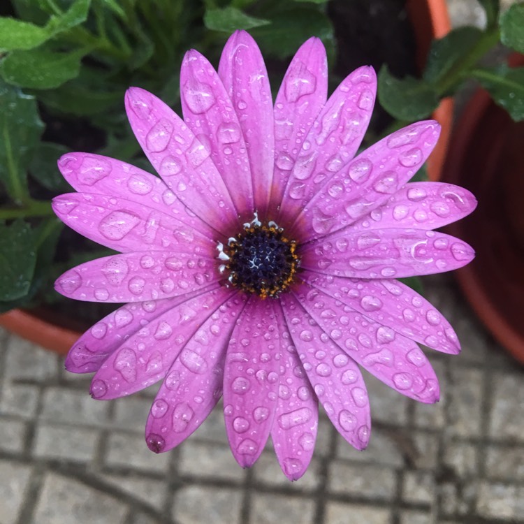
{"type": "Polygon", "coordinates": [[[268,439],[279,387],[279,333],[272,300],[252,297],[238,319],[224,369],[224,419],[242,467],[252,466],[268,439]]]}

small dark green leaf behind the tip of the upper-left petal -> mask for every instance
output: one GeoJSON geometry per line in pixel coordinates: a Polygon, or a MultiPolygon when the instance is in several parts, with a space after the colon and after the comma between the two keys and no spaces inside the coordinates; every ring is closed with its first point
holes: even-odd
{"type": "Polygon", "coordinates": [[[68,152],[68,148],[61,144],[39,143],[29,164],[29,173],[39,184],[50,191],[57,193],[74,191],[57,168],[57,160],[68,152]]]}

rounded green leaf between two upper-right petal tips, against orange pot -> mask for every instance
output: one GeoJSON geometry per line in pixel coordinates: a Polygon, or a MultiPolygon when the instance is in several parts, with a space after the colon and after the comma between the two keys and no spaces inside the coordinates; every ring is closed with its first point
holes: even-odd
{"type": "Polygon", "coordinates": [[[384,64],[379,71],[379,102],[393,117],[412,122],[428,117],[439,104],[432,85],[412,76],[395,78],[384,64]]]}

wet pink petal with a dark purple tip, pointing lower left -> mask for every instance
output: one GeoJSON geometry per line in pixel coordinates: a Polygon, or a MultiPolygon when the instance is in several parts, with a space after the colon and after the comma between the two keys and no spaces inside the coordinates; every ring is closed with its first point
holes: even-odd
{"type": "Polygon", "coordinates": [[[206,320],[170,367],[151,407],[145,428],[152,451],[168,451],[187,439],[222,395],[226,349],[246,301],[228,298],[206,320]]]}

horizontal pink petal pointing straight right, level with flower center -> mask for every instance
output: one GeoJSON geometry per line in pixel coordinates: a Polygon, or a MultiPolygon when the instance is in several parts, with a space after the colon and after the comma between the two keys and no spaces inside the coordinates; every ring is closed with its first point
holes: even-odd
{"type": "Polygon", "coordinates": [[[421,229],[351,228],[303,248],[302,267],[351,278],[400,278],[462,268],[473,249],[450,235],[421,229]]]}

